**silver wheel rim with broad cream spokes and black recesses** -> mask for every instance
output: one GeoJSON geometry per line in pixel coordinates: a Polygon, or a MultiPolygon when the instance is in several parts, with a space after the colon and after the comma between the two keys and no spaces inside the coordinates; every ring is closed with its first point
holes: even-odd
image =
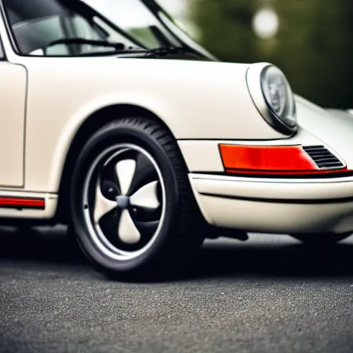
{"type": "Polygon", "coordinates": [[[120,144],[94,160],[83,185],[85,225],[94,244],[119,261],[145,253],[165,218],[161,170],[143,148],[120,144]]]}

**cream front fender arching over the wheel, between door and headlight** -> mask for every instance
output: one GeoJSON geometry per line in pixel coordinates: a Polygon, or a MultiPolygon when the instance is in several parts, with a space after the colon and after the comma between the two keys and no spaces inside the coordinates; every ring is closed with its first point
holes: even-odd
{"type": "Polygon", "coordinates": [[[29,73],[29,190],[58,190],[74,134],[90,114],[109,105],[146,108],[177,139],[288,139],[254,107],[245,83],[246,64],[45,57],[16,61],[29,73]]]}

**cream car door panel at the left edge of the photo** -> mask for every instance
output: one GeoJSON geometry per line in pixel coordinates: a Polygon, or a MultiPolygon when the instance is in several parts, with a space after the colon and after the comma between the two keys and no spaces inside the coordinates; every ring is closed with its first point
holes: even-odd
{"type": "Polygon", "coordinates": [[[23,187],[27,72],[0,43],[0,188],[23,187]]]}

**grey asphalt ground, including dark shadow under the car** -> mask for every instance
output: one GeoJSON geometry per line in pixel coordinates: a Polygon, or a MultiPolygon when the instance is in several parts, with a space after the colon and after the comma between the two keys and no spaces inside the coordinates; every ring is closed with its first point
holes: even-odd
{"type": "Polygon", "coordinates": [[[353,236],[208,241],[188,278],[161,283],[106,279],[61,229],[0,240],[1,353],[353,352],[353,236]]]}

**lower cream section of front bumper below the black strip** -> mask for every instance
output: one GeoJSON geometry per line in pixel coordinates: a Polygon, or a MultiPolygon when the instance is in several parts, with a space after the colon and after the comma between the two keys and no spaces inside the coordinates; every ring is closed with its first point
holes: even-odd
{"type": "Polygon", "coordinates": [[[271,203],[198,193],[196,201],[210,224],[225,228],[275,234],[353,231],[352,201],[314,205],[271,203]]]}

